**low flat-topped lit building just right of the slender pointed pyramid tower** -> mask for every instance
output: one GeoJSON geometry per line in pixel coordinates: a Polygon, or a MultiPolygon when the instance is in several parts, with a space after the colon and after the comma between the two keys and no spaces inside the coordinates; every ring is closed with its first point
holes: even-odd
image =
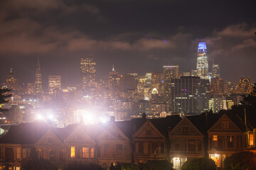
{"type": "Polygon", "coordinates": [[[48,93],[56,94],[61,89],[61,76],[48,76],[48,93]]]}

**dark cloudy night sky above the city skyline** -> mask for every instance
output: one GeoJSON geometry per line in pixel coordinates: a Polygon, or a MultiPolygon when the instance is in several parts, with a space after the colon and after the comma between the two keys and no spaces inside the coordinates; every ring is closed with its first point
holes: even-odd
{"type": "Polygon", "coordinates": [[[112,64],[144,74],[178,64],[196,69],[198,42],[223,79],[256,81],[256,1],[1,0],[0,81],[12,67],[20,83],[34,81],[36,56],[46,83],[61,75],[79,84],[80,57],[93,55],[98,79],[112,64]]]}

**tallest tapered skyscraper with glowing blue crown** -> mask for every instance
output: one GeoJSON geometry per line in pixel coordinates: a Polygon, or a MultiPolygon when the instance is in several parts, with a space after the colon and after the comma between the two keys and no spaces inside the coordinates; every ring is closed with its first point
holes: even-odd
{"type": "Polygon", "coordinates": [[[201,77],[202,79],[209,79],[206,42],[199,42],[198,44],[196,74],[198,77],[201,77]]]}

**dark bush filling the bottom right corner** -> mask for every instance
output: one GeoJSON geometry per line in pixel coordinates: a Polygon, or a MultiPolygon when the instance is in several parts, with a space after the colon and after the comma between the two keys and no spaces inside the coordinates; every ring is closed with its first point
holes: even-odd
{"type": "Polygon", "coordinates": [[[256,154],[252,152],[239,152],[232,154],[224,160],[225,170],[255,169],[256,154]]]}

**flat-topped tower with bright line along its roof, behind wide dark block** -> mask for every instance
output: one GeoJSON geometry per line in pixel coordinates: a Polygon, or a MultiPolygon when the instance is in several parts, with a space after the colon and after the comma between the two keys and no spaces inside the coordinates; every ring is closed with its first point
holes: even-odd
{"type": "Polygon", "coordinates": [[[164,101],[166,111],[171,111],[171,79],[178,79],[178,65],[164,66],[164,101]]]}

